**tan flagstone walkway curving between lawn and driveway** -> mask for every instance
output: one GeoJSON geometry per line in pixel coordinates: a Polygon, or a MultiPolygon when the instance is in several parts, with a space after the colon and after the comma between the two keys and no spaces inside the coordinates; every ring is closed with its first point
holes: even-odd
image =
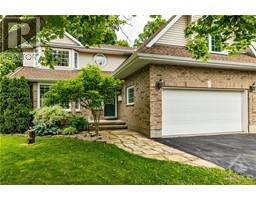
{"type": "MultiPolygon", "coordinates": [[[[101,131],[100,135],[101,139],[99,141],[114,144],[121,149],[143,157],[175,161],[193,166],[220,168],[211,162],[205,161],[178,149],[160,144],[134,131],[107,130],[101,131]]],[[[74,135],[74,137],[82,140],[90,140],[88,137],[85,137],[85,134],[74,135]]]]}

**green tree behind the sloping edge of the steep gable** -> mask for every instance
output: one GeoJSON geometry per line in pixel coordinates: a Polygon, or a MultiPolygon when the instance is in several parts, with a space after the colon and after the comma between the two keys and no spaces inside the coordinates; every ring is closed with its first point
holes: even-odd
{"type": "Polygon", "coordinates": [[[150,20],[144,26],[143,32],[139,34],[138,38],[134,41],[134,47],[139,47],[145,40],[160,29],[166,23],[166,20],[161,15],[150,15],[150,20]]]}

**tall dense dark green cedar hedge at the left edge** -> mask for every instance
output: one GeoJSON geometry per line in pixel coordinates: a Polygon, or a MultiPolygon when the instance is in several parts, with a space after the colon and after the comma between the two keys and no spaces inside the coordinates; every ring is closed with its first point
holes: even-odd
{"type": "Polygon", "coordinates": [[[0,133],[24,133],[31,123],[32,100],[25,78],[0,80],[0,133]]]}

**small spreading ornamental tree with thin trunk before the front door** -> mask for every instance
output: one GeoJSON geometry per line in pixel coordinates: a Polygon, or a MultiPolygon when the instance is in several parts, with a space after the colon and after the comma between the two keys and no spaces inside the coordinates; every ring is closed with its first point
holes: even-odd
{"type": "Polygon", "coordinates": [[[96,65],[87,65],[78,77],[58,81],[44,96],[45,105],[68,106],[69,102],[80,99],[81,106],[91,111],[95,133],[99,133],[99,120],[105,103],[114,103],[122,81],[104,74],[96,65]]]}

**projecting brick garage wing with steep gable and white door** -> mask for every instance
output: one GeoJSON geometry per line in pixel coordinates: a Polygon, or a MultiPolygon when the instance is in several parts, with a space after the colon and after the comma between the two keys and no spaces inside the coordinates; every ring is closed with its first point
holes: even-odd
{"type": "Polygon", "coordinates": [[[209,36],[208,62],[192,59],[173,16],[113,75],[125,80],[118,117],[149,137],[256,132],[256,51],[228,56],[209,36]]]}

